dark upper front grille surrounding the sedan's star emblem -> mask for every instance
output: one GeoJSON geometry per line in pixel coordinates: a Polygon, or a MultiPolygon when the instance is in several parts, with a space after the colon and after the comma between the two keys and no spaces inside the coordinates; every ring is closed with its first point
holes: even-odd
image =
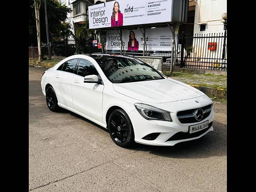
{"type": "MultiPolygon", "coordinates": [[[[179,111],[177,113],[178,120],[181,123],[196,123],[196,122],[198,122],[198,120],[196,120],[196,118],[194,117],[194,113],[193,113],[197,109],[200,109],[200,108],[179,111]]],[[[204,120],[205,118],[207,118],[210,115],[211,110],[212,110],[212,104],[201,107],[201,109],[204,111],[204,115],[200,121],[204,120]]]]}

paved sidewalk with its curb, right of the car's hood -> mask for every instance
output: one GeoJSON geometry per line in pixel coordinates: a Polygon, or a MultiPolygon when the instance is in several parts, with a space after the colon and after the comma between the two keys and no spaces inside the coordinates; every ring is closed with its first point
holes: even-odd
{"type": "Polygon", "coordinates": [[[227,96],[227,77],[223,75],[212,74],[195,74],[190,72],[173,72],[170,76],[170,71],[163,73],[177,81],[186,83],[204,92],[210,98],[218,98],[226,100],[227,96]]]}

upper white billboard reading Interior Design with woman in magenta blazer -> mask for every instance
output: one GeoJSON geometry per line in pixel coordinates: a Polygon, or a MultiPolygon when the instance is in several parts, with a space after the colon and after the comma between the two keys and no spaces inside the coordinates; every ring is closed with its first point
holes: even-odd
{"type": "Polygon", "coordinates": [[[171,22],[172,1],[114,0],[89,6],[89,28],[171,22]]]}

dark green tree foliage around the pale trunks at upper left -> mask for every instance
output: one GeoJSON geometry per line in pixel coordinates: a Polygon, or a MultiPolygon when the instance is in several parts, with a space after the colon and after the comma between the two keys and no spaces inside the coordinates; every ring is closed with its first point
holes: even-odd
{"type": "MultiPolygon", "coordinates": [[[[67,35],[72,36],[70,24],[62,24],[66,21],[68,13],[71,13],[71,8],[68,8],[65,4],[61,5],[56,0],[46,0],[47,17],[48,17],[48,30],[50,41],[53,38],[63,38],[67,35]]],[[[45,10],[44,0],[41,0],[40,6],[40,28],[41,28],[41,42],[46,43],[46,23],[45,23],[45,10]]],[[[28,34],[29,34],[29,46],[33,44],[37,45],[36,39],[36,17],[34,0],[29,0],[29,19],[28,19],[28,34]]]]}

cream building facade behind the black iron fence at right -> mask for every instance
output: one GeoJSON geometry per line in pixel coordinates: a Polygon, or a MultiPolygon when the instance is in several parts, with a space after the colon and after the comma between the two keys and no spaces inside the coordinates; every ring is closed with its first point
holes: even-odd
{"type": "Polygon", "coordinates": [[[222,14],[227,12],[226,0],[190,0],[188,23],[179,31],[194,34],[186,38],[187,62],[191,65],[226,66],[227,38],[224,36],[222,14]],[[193,24],[193,25],[192,25],[193,24]],[[191,28],[191,26],[193,28],[191,28]]]}

